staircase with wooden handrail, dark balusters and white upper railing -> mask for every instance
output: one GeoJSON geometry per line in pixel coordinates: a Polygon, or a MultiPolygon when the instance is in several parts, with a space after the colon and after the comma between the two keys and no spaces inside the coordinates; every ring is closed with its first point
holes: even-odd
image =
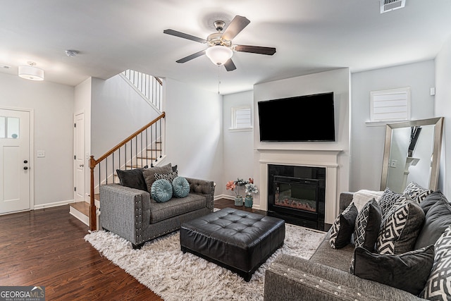
{"type": "Polygon", "coordinates": [[[163,99],[163,82],[152,75],[126,70],[121,77],[134,87],[136,92],[161,114],[153,121],[125,138],[121,143],[106,152],[99,159],[89,159],[90,187],[88,202],[70,204],[69,213],[89,226],[91,231],[97,230],[99,216],[99,186],[119,183],[116,169],[126,170],[144,166],[153,167],[164,158],[163,120],[166,116],[161,112],[163,99]]]}

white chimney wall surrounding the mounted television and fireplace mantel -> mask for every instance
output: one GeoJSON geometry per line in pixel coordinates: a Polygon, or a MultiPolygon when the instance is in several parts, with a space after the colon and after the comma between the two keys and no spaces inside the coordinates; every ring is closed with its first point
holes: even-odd
{"type": "MultiPolygon", "coordinates": [[[[299,95],[318,94],[323,92],[334,92],[335,102],[335,142],[260,142],[259,130],[254,130],[254,176],[258,187],[261,185],[259,173],[259,150],[258,149],[292,149],[292,150],[341,150],[338,154],[338,194],[349,190],[349,157],[350,157],[350,71],[348,68],[331,70],[322,73],[288,78],[254,85],[254,111],[257,111],[257,103],[268,99],[283,97],[295,97],[299,95]]],[[[258,114],[254,116],[254,124],[258,125],[258,114]]],[[[257,195],[254,203],[260,205],[266,199],[265,196],[257,195]]],[[[337,195],[338,199],[338,195],[337,195]]],[[[336,199],[335,199],[336,201],[336,199]]]]}

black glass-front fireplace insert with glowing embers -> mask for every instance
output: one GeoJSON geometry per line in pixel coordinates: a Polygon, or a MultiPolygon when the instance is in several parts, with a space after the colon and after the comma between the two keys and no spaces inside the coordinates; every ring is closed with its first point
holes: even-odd
{"type": "Polygon", "coordinates": [[[324,230],[326,168],[268,164],[268,214],[324,230]]]}

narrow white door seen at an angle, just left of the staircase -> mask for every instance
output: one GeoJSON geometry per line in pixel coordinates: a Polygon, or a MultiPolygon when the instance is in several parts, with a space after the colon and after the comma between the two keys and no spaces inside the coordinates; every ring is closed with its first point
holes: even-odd
{"type": "Polygon", "coordinates": [[[74,122],[74,199],[81,202],[85,200],[85,113],[75,115],[74,122]]]}

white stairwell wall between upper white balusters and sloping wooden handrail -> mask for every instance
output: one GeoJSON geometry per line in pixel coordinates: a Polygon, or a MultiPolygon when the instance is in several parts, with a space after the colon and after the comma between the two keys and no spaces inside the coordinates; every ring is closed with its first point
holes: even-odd
{"type": "Polygon", "coordinates": [[[159,116],[120,75],[92,78],[91,153],[97,159],[159,116]]]}

